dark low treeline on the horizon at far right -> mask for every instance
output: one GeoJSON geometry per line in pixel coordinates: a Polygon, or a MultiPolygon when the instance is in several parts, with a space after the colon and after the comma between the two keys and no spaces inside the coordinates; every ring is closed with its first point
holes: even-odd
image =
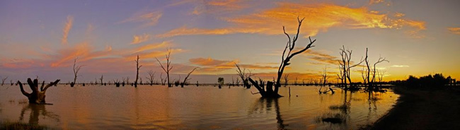
{"type": "Polygon", "coordinates": [[[405,81],[390,81],[389,83],[392,85],[406,86],[408,88],[416,89],[443,89],[447,86],[460,85],[459,81],[456,81],[450,76],[444,77],[442,76],[442,73],[421,76],[420,78],[409,76],[409,78],[405,81]]]}

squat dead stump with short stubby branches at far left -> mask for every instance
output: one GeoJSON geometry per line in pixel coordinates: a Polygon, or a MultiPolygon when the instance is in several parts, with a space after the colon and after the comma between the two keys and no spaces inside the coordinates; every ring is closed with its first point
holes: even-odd
{"type": "MultiPolygon", "coordinates": [[[[30,86],[30,89],[32,90],[32,93],[27,93],[25,92],[23,88],[23,83],[21,81],[18,81],[19,87],[21,88],[21,93],[25,95],[25,97],[28,98],[29,103],[34,103],[34,104],[47,104],[45,102],[45,93],[48,88],[50,88],[52,85],[56,85],[59,83],[59,79],[46,85],[45,86],[45,81],[43,81],[42,86],[40,87],[40,91],[38,90],[38,79],[31,80],[30,78],[27,79],[27,83],[30,86]]],[[[52,105],[52,104],[47,104],[47,105],[52,105]]]]}

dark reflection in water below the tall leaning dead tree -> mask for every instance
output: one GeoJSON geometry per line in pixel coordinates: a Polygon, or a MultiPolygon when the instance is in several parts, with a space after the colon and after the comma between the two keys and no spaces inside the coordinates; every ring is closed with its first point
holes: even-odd
{"type": "Polygon", "coordinates": [[[284,124],[284,121],[282,120],[278,98],[260,98],[256,100],[253,111],[250,111],[250,114],[263,114],[263,112],[268,113],[272,110],[272,107],[275,107],[277,128],[285,129],[284,127],[288,126],[288,124],[284,124]]]}

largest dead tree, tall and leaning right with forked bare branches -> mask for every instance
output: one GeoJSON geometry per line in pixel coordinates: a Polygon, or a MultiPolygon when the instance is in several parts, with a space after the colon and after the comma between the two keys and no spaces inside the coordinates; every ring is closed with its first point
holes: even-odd
{"type": "Polygon", "coordinates": [[[290,64],[289,61],[291,61],[292,57],[294,57],[297,54],[301,54],[302,52],[305,52],[307,49],[309,49],[311,47],[314,47],[312,45],[316,40],[312,41],[311,38],[309,37],[310,43],[308,45],[306,45],[305,48],[300,49],[297,52],[292,53],[292,51],[295,49],[295,44],[297,42],[297,39],[299,38],[300,27],[301,27],[301,23],[302,23],[303,20],[304,20],[304,18],[302,18],[301,20],[299,18],[297,18],[297,22],[299,23],[299,26],[297,27],[297,34],[293,37],[292,41],[291,41],[291,37],[286,33],[286,30],[284,30],[284,26],[283,26],[283,32],[284,32],[284,35],[287,36],[288,42],[286,43],[286,47],[284,47],[284,51],[283,51],[282,57],[281,57],[280,68],[278,68],[278,71],[277,71],[278,76],[277,76],[277,81],[276,81],[276,84],[275,84],[275,90],[273,90],[273,92],[269,91],[269,89],[272,89],[272,85],[273,85],[272,82],[267,82],[267,85],[266,85],[267,89],[265,91],[262,88],[260,88],[258,83],[255,83],[251,78],[249,78],[249,81],[251,81],[251,83],[253,83],[255,88],[257,88],[259,90],[260,95],[263,98],[280,98],[280,97],[282,97],[280,94],[278,94],[278,88],[281,87],[280,81],[281,81],[281,77],[282,77],[282,73],[284,71],[284,68],[286,66],[289,66],[289,64],[290,64]]]}

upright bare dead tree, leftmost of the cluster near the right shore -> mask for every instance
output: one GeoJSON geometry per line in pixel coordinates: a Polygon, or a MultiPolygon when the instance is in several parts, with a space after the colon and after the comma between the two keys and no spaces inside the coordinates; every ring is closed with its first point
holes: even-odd
{"type": "Polygon", "coordinates": [[[360,65],[363,62],[361,58],[360,63],[350,65],[350,63],[352,62],[352,52],[353,51],[350,49],[345,49],[345,46],[342,46],[342,49],[340,49],[340,56],[342,57],[342,61],[339,61],[339,69],[341,70],[340,73],[343,76],[340,76],[339,78],[343,78],[342,84],[345,85],[345,89],[347,89],[347,80],[348,83],[352,83],[352,80],[350,78],[351,69],[355,66],[360,65]]]}

